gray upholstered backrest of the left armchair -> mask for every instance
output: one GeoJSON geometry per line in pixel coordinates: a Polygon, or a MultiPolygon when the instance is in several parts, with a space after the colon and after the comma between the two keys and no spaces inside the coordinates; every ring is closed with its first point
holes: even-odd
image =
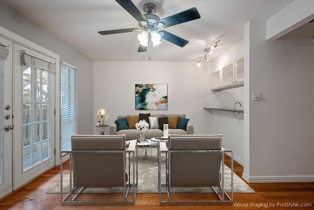
{"type": "Polygon", "coordinates": [[[72,150],[121,150],[73,153],[74,186],[123,186],[126,179],[125,135],[73,135],[72,150]]]}

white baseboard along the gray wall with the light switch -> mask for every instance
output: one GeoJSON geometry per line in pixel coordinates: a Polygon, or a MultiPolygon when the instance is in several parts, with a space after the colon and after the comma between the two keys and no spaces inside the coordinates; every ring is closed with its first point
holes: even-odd
{"type": "Polygon", "coordinates": [[[272,183],[272,182],[314,182],[314,176],[264,176],[249,177],[242,173],[242,179],[249,183],[272,183]]]}

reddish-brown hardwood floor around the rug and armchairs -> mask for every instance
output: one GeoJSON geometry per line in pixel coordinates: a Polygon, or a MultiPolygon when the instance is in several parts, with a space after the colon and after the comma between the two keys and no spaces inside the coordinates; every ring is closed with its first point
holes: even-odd
{"type": "MultiPolygon", "coordinates": [[[[226,156],[226,165],[231,159],[226,156]]],[[[63,164],[69,169],[69,162],[63,164]]],[[[241,177],[243,167],[234,162],[234,171],[241,177]]],[[[314,209],[314,182],[301,183],[248,183],[256,193],[235,193],[234,202],[223,205],[160,206],[158,194],[136,196],[134,206],[61,206],[59,194],[46,191],[60,180],[60,167],[55,167],[0,201],[1,210],[202,210],[202,209],[314,209]],[[293,208],[291,208],[291,205],[293,208]],[[298,205],[298,207],[296,207],[298,205]],[[300,207],[300,205],[310,205],[300,207]]],[[[67,174],[67,173],[65,173],[67,174]]]]}

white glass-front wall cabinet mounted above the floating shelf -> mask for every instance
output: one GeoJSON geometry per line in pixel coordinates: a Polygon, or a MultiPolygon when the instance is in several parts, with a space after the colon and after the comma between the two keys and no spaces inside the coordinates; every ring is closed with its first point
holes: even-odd
{"type": "Polygon", "coordinates": [[[211,90],[226,90],[244,85],[244,58],[236,59],[211,73],[211,90]]]}

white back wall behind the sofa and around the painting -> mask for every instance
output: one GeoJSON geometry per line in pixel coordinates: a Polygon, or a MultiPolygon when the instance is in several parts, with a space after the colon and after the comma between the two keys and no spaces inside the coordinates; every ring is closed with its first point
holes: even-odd
{"type": "MultiPolygon", "coordinates": [[[[207,62],[197,67],[196,62],[95,61],[94,123],[99,120],[96,112],[100,108],[109,114],[105,124],[113,124],[118,115],[182,113],[194,125],[194,133],[202,134],[208,127],[203,123],[203,107],[211,94],[209,72],[207,62]],[[168,84],[168,110],[135,110],[135,84],[149,83],[168,84]]],[[[94,134],[98,133],[94,128],[94,134]]]]}

